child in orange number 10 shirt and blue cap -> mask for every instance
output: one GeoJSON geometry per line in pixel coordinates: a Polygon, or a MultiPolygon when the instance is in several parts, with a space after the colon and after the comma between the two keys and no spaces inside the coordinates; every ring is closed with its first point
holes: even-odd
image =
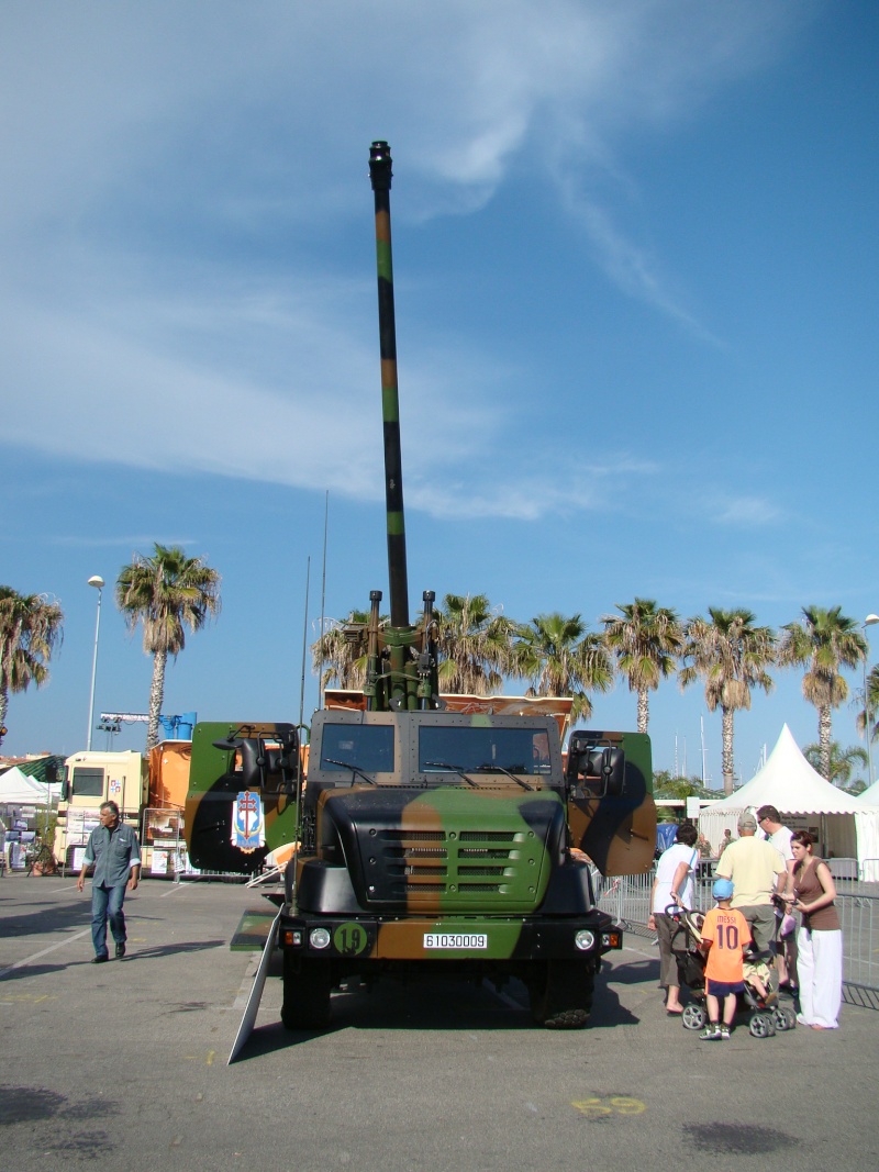
{"type": "Polygon", "coordinates": [[[706,1001],[708,1024],[699,1035],[702,1042],[729,1041],[729,1028],[736,1015],[738,994],[744,989],[742,955],[751,942],[748,921],[729,906],[732,881],[715,879],[711,892],[717,907],[713,907],[702,925],[702,949],[708,954],[706,965],[706,1001]],[[720,1022],[723,1000],[723,1024],[720,1022]]]}

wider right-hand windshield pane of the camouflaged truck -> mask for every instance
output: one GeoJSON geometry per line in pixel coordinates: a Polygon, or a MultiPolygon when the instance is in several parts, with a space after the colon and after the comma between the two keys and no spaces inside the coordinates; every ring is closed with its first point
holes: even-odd
{"type": "Polygon", "coordinates": [[[418,772],[448,769],[464,774],[548,774],[550,738],[543,729],[423,725],[418,730],[418,772]]]}

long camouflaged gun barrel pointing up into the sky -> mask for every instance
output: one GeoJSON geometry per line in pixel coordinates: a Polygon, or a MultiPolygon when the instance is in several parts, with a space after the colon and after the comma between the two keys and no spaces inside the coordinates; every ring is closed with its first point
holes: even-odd
{"type": "Polygon", "coordinates": [[[403,469],[400,454],[397,340],[394,318],[394,263],[390,246],[390,148],[374,142],[369,149],[369,179],[375,196],[375,259],[379,270],[379,339],[382,363],[384,423],[384,499],[388,512],[388,573],[390,625],[409,626],[409,586],[406,568],[403,469]]]}

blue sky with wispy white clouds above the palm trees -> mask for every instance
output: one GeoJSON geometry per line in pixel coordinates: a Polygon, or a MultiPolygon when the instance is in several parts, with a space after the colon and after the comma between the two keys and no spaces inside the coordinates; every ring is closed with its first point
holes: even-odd
{"type": "MultiPolygon", "coordinates": [[[[327,493],[326,615],[387,593],[374,138],[413,613],[879,612],[877,48],[872,2],[7,0],[0,581],[66,622],[4,751],[84,745],[91,574],[96,708],[145,710],[110,587],[154,541],[223,574],[169,713],[298,717],[327,493]]],[[[699,687],[650,717],[688,772],[703,720],[720,784],[699,687]]],[[[736,716],[743,778],[785,721],[816,738],[796,673],[736,716]]]]}

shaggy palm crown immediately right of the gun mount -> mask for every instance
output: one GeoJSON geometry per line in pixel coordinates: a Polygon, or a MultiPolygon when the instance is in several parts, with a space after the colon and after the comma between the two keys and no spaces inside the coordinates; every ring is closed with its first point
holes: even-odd
{"type": "Polygon", "coordinates": [[[447,594],[434,614],[442,690],[498,691],[512,666],[512,619],[492,611],[485,594],[447,594]]]}

